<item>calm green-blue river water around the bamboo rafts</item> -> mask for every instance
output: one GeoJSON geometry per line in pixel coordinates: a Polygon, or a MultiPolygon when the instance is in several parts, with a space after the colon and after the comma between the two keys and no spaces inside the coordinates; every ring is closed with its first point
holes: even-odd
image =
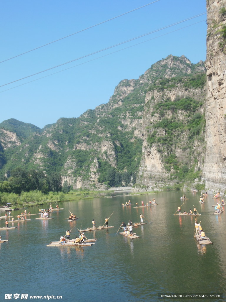
{"type": "MultiPolygon", "coordinates": [[[[199,193],[186,195],[189,200],[181,207],[182,212],[193,210],[193,205],[196,207],[201,214],[198,222],[201,221],[213,245],[200,246],[193,238],[195,217],[174,215],[183,203],[179,192],[61,202],[59,207],[64,210],[51,213],[54,219],[36,220],[39,215],[32,215],[27,217],[30,221],[14,223],[18,225],[15,230],[1,230],[2,239],[9,241],[0,244],[0,301],[7,301],[5,294],[12,294],[11,300],[15,300],[16,293],[20,294],[18,300],[21,294],[28,294],[30,301],[47,301],[30,299],[30,295],[62,295],[59,300],[62,302],[160,301],[160,293],[226,295],[225,213],[213,215],[212,205],[216,200],[212,196],[205,197],[206,203],[200,205],[199,193]],[[136,201],[139,205],[142,200],[146,204],[153,197],[157,206],[134,208],[136,201]],[[122,207],[129,199],[134,205],[122,207]],[[86,232],[88,239],[97,238],[92,246],[47,247],[46,244],[59,240],[75,225],[64,219],[69,216],[69,210],[79,217],[71,239],[78,236],[77,228],[91,227],[93,219],[96,226],[103,225],[105,217],[113,211],[108,226],[114,228],[86,232]],[[147,224],[133,229],[139,239],[117,234],[122,221],[139,222],[140,213],[147,224]]],[[[56,203],[52,205],[55,207],[56,203]]],[[[49,204],[42,207],[48,208],[49,204]]],[[[38,213],[37,207],[29,210],[38,213]]],[[[20,213],[21,210],[13,212],[14,216],[20,213]]],[[[5,219],[0,221],[0,226],[5,226],[5,219]]]]}

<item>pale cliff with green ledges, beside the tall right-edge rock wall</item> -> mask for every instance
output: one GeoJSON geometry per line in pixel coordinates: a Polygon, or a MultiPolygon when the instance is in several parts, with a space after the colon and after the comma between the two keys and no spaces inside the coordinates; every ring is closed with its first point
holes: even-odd
{"type": "MultiPolygon", "coordinates": [[[[194,115],[191,112],[188,114],[186,106],[178,108],[180,100],[193,100],[199,104],[195,110],[196,114],[203,115],[204,89],[195,85],[188,88],[185,85],[186,79],[189,80],[189,76],[194,72],[205,72],[203,62],[194,67],[184,56],[168,56],[154,64],[143,76],[149,80],[150,86],[142,119],[142,159],[137,177],[140,186],[145,185],[153,189],[175,185],[182,181],[182,174],[177,171],[183,166],[193,169],[194,172],[199,170],[199,179],[194,178],[193,182],[203,182],[202,140],[195,135],[191,140],[189,130],[189,123],[194,115]],[[160,70],[164,70],[163,75],[159,75],[160,70]],[[157,79],[153,75],[157,76],[157,79]],[[183,77],[183,80],[178,75],[183,77]]],[[[202,133],[203,130],[204,126],[202,133]]]]}

